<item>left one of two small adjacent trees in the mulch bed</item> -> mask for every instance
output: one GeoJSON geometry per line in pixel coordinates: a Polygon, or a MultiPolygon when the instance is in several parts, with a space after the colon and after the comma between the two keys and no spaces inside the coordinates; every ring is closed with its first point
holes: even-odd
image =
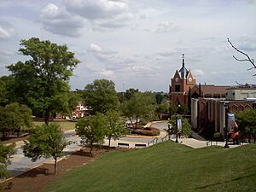
{"type": "Polygon", "coordinates": [[[96,113],[79,119],[76,124],[76,131],[79,137],[85,138],[85,143],[90,145],[90,155],[94,143],[103,143],[108,131],[108,122],[102,113],[96,113]]]}

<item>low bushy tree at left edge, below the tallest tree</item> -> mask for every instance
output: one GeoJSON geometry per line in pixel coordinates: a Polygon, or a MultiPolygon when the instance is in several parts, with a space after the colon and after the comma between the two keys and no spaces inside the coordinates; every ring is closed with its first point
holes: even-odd
{"type": "Polygon", "coordinates": [[[32,111],[26,105],[14,102],[5,107],[0,107],[0,131],[3,139],[6,139],[15,131],[19,137],[22,128],[31,127],[32,111]]]}

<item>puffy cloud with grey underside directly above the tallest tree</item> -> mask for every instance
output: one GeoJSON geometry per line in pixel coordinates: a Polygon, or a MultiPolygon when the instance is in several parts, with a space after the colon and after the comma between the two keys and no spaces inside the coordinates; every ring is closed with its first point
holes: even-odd
{"type": "Polygon", "coordinates": [[[58,35],[79,37],[79,29],[84,26],[81,18],[68,14],[65,9],[59,8],[54,3],[46,5],[40,17],[44,29],[58,35]]]}

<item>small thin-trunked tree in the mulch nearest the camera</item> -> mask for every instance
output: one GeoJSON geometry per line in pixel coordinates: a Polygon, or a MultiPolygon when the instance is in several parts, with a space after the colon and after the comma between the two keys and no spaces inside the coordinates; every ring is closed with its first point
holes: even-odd
{"type": "Polygon", "coordinates": [[[23,153],[32,161],[41,157],[53,157],[55,160],[55,174],[57,170],[57,159],[63,156],[63,150],[71,142],[62,136],[61,126],[56,123],[38,126],[22,146],[23,153]]]}

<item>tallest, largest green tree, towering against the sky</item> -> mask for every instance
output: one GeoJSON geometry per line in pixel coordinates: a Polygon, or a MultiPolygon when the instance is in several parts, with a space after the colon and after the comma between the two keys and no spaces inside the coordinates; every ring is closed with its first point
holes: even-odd
{"type": "Polygon", "coordinates": [[[13,89],[18,102],[27,104],[33,113],[42,113],[45,124],[55,112],[67,112],[68,81],[79,63],[67,45],[57,45],[39,38],[20,41],[19,49],[31,59],[8,67],[15,78],[13,89]]]}

